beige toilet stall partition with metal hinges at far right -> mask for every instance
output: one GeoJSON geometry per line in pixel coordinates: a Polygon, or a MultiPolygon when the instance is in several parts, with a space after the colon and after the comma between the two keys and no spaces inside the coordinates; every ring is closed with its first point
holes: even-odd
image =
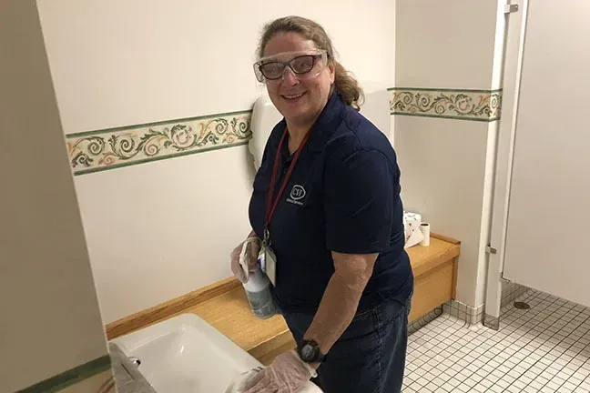
{"type": "Polygon", "coordinates": [[[486,292],[504,283],[590,306],[590,2],[513,2],[486,292]]]}

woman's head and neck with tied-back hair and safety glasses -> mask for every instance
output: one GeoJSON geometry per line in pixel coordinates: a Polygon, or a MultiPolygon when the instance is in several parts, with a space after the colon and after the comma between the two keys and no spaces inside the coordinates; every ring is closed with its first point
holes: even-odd
{"type": "Polygon", "coordinates": [[[361,88],[334,58],[320,25],[297,16],[277,19],[266,26],[258,52],[254,70],[288,121],[290,147],[299,146],[334,89],[346,105],[359,108],[361,88]]]}

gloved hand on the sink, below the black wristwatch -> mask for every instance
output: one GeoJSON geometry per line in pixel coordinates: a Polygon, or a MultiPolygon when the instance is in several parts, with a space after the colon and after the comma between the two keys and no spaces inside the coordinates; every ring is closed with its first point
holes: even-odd
{"type": "Polygon", "coordinates": [[[293,350],[280,354],[244,388],[244,393],[293,393],[317,374],[293,350]]]}

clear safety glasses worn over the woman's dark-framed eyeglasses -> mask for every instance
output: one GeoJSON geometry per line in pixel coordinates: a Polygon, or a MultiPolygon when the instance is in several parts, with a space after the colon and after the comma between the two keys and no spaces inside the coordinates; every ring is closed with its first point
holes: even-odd
{"type": "Polygon", "coordinates": [[[287,67],[299,79],[319,76],[328,64],[328,54],[320,51],[315,54],[299,54],[286,62],[279,61],[276,56],[266,57],[254,63],[254,74],[259,82],[282,79],[287,67]]]}

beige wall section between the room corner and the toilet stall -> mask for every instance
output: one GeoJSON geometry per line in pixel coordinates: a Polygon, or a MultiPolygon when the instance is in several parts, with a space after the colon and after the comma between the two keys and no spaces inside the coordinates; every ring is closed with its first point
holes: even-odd
{"type": "MultiPolygon", "coordinates": [[[[432,89],[433,97],[499,88],[504,39],[500,3],[397,0],[395,86],[432,89]]],[[[484,96],[469,94],[475,105],[484,96]]],[[[480,306],[498,122],[395,117],[404,205],[421,212],[432,231],[462,241],[457,300],[480,306]]]]}

